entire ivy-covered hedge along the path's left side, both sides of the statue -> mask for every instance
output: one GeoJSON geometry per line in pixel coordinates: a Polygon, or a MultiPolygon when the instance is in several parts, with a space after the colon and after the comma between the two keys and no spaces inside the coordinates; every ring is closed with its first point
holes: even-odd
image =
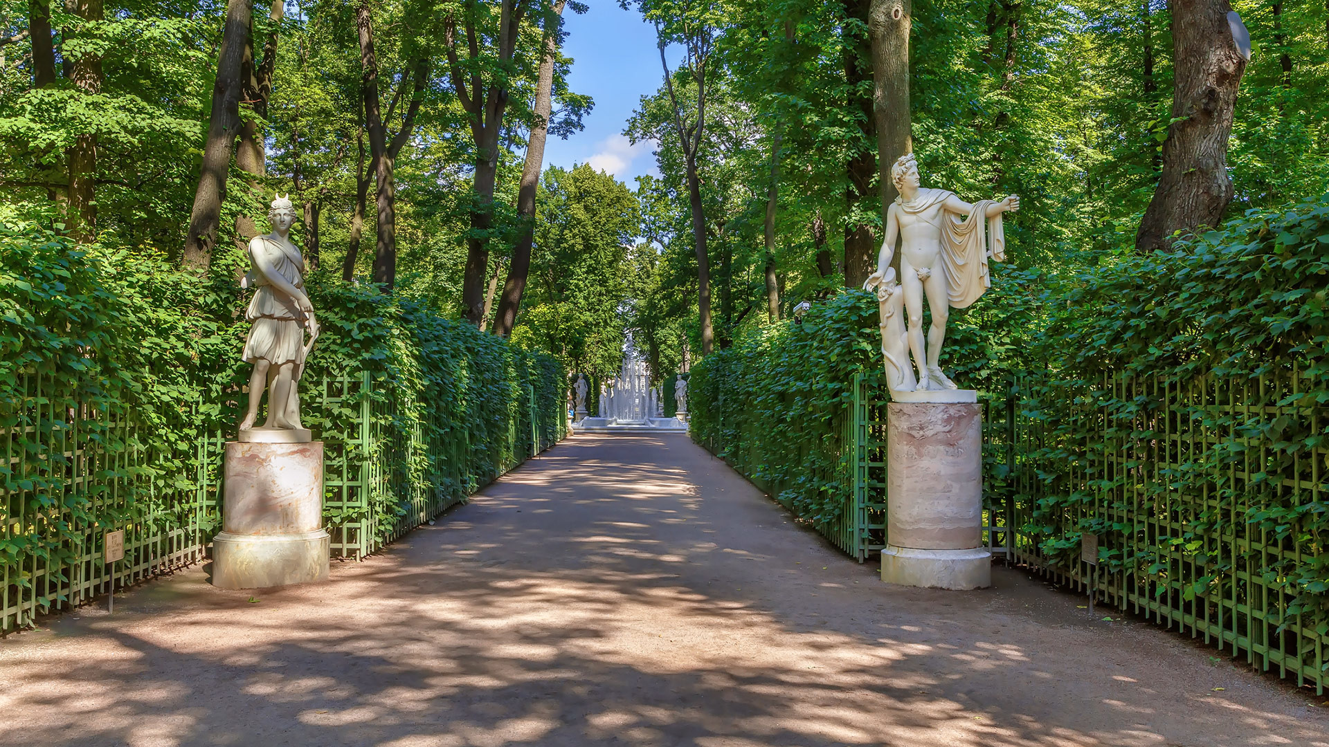
{"type": "MultiPolygon", "coordinates": [[[[249,366],[238,257],[198,278],[165,258],[0,226],[0,630],[202,557],[219,528],[221,445],[249,366]]],[[[326,518],[358,557],[566,432],[548,355],[429,304],[308,279],[323,326],[300,381],[326,443],[326,518]]]]}

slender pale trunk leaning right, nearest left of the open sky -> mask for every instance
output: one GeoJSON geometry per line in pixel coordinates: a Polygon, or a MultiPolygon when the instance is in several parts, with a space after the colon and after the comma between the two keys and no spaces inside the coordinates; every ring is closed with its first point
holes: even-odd
{"type": "MultiPolygon", "coordinates": [[[[563,0],[554,5],[554,15],[562,17],[563,0]]],[[[554,29],[557,31],[557,29],[554,29]]],[[[526,141],[526,162],[521,169],[521,185],[517,187],[517,215],[522,221],[521,238],[512,250],[512,266],[502,284],[502,298],[498,299],[498,312],[494,315],[493,332],[501,338],[512,334],[521,308],[521,294],[526,290],[526,276],[530,274],[530,250],[536,242],[536,191],[540,187],[540,171],[545,165],[545,141],[549,138],[549,117],[554,109],[554,57],[558,54],[558,35],[545,31],[545,56],[540,61],[540,78],[536,81],[536,124],[530,128],[526,141]]]]}

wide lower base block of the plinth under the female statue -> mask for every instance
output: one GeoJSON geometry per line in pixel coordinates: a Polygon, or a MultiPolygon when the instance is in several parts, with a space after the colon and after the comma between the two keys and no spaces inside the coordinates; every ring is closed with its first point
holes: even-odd
{"type": "Polygon", "coordinates": [[[328,533],[231,534],[213,538],[213,586],[266,589],[328,580],[328,533]]]}

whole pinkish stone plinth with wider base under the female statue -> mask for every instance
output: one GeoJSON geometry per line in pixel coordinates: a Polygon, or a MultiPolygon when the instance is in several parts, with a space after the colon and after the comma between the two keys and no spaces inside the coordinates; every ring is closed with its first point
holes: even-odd
{"type": "Polygon", "coordinates": [[[323,441],[227,443],[213,585],[262,589],[327,577],[323,441]]]}

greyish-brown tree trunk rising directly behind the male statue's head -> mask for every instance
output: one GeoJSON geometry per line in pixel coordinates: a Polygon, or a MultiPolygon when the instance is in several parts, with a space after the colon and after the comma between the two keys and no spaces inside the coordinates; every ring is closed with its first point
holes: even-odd
{"type": "MultiPolygon", "coordinates": [[[[900,194],[890,181],[890,167],[913,152],[909,118],[909,29],[912,0],[872,0],[868,33],[872,39],[872,110],[877,122],[877,186],[881,190],[881,225],[900,194]]],[[[860,280],[861,283],[861,280],[860,280]]]]}

